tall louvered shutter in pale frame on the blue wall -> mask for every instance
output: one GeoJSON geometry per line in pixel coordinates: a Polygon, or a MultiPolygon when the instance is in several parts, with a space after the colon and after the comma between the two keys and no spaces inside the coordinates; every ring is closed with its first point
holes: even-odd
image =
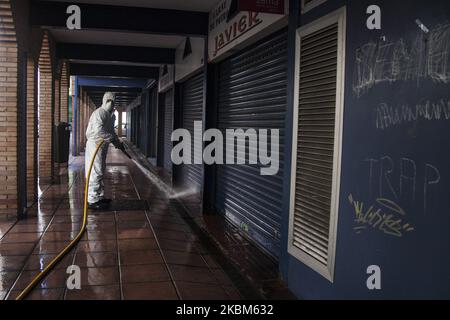
{"type": "Polygon", "coordinates": [[[334,226],[338,196],[340,151],[336,150],[340,150],[337,133],[340,133],[338,108],[342,88],[338,79],[342,73],[339,60],[344,56],[339,54],[343,50],[339,28],[339,20],[334,20],[300,34],[297,48],[297,130],[289,245],[290,252],[300,252],[300,256],[313,260],[313,265],[322,270],[329,270],[330,248],[334,248],[334,240],[330,246],[330,228],[331,224],[334,226]]]}

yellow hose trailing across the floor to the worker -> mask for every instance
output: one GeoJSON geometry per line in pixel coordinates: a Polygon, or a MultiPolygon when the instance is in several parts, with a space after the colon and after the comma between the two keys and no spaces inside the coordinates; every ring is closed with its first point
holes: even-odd
{"type": "Polygon", "coordinates": [[[43,277],[47,275],[47,273],[52,270],[55,265],[61,261],[62,258],[73,248],[74,245],[80,241],[81,237],[83,236],[83,233],[86,231],[86,224],[87,224],[87,212],[88,212],[88,191],[89,191],[89,179],[91,177],[91,171],[92,166],[94,165],[94,159],[97,156],[98,150],[100,150],[100,147],[105,143],[105,141],[100,141],[100,143],[97,145],[97,148],[95,149],[94,156],[92,157],[91,164],[89,165],[89,171],[86,177],[86,185],[84,186],[84,209],[83,209],[83,225],[81,226],[80,232],[78,232],[78,235],[73,239],[49,264],[47,267],[45,267],[44,270],[42,270],[34,279],[30,282],[30,284],[23,289],[23,291],[17,296],[16,300],[23,300],[30,292],[33,290],[33,288],[42,280],[43,277]]]}

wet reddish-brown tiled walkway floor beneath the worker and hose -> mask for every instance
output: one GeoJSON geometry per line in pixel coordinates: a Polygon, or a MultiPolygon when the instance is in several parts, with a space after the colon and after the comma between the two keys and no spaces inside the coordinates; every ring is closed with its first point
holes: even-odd
{"type": "MultiPolygon", "coordinates": [[[[78,233],[83,160],[76,158],[45,190],[27,219],[0,222],[0,299],[14,299],[78,233]]],[[[106,196],[120,205],[89,212],[82,241],[29,299],[243,298],[167,195],[114,149],[105,184],[106,196]],[[136,210],[138,200],[146,200],[148,210],[136,210]],[[80,267],[80,290],[67,289],[69,265],[80,267]]]]}

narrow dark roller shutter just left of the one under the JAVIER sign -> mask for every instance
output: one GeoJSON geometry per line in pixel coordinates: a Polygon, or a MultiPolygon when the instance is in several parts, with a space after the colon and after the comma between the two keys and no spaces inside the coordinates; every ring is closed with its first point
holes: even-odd
{"type": "MultiPolygon", "coordinates": [[[[194,163],[194,155],[202,158],[203,150],[194,148],[194,121],[202,121],[203,114],[203,72],[193,76],[182,85],[182,113],[183,128],[191,133],[191,163],[194,163]]],[[[182,165],[180,171],[181,184],[185,187],[200,191],[203,180],[203,165],[182,165]]]]}

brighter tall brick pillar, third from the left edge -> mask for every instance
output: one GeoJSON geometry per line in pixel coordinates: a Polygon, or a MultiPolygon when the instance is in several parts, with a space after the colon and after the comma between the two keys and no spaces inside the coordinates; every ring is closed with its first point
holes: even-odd
{"type": "Polygon", "coordinates": [[[53,74],[47,33],[39,55],[39,179],[44,183],[53,179],[53,74]]]}

